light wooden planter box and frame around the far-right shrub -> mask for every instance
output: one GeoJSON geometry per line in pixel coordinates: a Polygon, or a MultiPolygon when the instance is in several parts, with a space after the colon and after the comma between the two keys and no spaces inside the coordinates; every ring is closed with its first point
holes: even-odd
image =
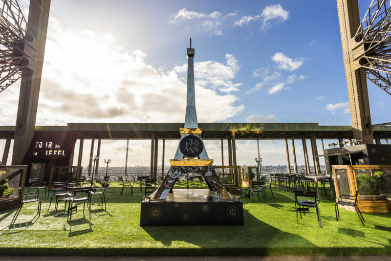
{"type": "MultiPolygon", "coordinates": [[[[391,165],[333,165],[332,173],[334,178],[335,194],[338,197],[341,195],[338,180],[338,170],[345,170],[348,177],[350,195],[354,195],[357,190],[357,180],[355,170],[370,170],[371,174],[374,170],[391,170],[391,165]]],[[[390,213],[391,199],[384,195],[359,195],[357,198],[357,205],[361,212],[365,213],[390,213]]],[[[354,211],[353,208],[342,206],[343,208],[354,211]]]]}

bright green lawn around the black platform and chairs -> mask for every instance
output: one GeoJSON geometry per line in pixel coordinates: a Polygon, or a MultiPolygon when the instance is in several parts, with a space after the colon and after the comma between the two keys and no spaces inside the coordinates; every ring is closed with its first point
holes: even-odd
{"type": "Polygon", "coordinates": [[[391,254],[391,214],[363,214],[340,210],[336,221],[334,203],[322,199],[322,228],[314,210],[296,223],[292,194],[267,192],[267,203],[242,198],[244,226],[140,227],[140,202],[144,193],[114,183],[106,190],[107,209],[100,198],[92,203],[91,220],[83,206],[67,220],[63,212],[49,211],[43,200],[23,206],[15,225],[14,210],[0,213],[0,253],[54,255],[381,255],[391,254]]]}

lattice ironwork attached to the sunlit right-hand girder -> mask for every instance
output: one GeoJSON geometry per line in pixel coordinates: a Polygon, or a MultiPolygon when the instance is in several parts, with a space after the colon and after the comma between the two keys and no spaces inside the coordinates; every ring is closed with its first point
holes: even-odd
{"type": "Polygon", "coordinates": [[[391,95],[390,1],[372,0],[354,39],[364,45],[359,64],[367,69],[367,78],[391,95]]]}

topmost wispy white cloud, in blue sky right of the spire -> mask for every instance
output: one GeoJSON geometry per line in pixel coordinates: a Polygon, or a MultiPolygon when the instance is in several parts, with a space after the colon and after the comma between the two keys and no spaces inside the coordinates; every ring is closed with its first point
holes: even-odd
{"type": "Polygon", "coordinates": [[[280,4],[275,4],[266,6],[261,15],[241,17],[238,21],[234,22],[233,26],[243,26],[251,21],[262,20],[261,28],[262,30],[266,30],[270,26],[270,20],[276,19],[284,22],[288,18],[289,12],[284,10],[280,4]]]}

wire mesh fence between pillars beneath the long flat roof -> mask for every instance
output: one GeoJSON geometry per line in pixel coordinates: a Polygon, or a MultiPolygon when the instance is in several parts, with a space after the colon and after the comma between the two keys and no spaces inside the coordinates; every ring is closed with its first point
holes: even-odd
{"type": "MultiPolygon", "coordinates": [[[[381,144],[387,144],[389,140],[381,139],[381,144]]],[[[0,157],[5,148],[5,139],[0,139],[0,157]]],[[[157,174],[164,175],[170,168],[170,159],[174,158],[175,152],[178,148],[178,140],[158,140],[157,145],[157,174]],[[163,152],[164,142],[164,152],[163,152]]],[[[295,160],[293,155],[292,140],[287,140],[287,151],[289,156],[290,170],[287,167],[285,140],[258,140],[259,153],[261,157],[261,172],[263,173],[295,173],[295,160]]],[[[329,149],[332,143],[336,144],[337,139],[316,140],[318,155],[324,154],[324,149],[329,149]]],[[[8,159],[5,164],[10,165],[12,161],[14,140],[11,141],[8,159]]],[[[109,174],[145,174],[151,173],[151,140],[101,140],[100,143],[100,157],[99,162],[90,160],[90,156],[98,154],[98,140],[85,139],[83,142],[83,155],[81,166],[83,166],[83,173],[88,174],[89,169],[92,169],[95,164],[99,164],[97,168],[98,174],[106,174],[107,164],[105,159],[110,159],[108,166],[109,174]],[[93,151],[91,154],[91,146],[93,151]],[[91,165],[91,166],[89,166],[91,165]]],[[[293,140],[295,147],[297,173],[307,173],[305,166],[305,157],[302,139],[293,140]]],[[[312,153],[311,142],[309,139],[305,140],[306,149],[308,153],[308,162],[311,174],[315,173],[314,157],[312,153]]],[[[214,159],[214,165],[233,165],[233,160],[229,160],[229,143],[228,140],[220,139],[206,139],[204,140],[205,148],[208,156],[214,159]]],[[[79,158],[80,140],[75,144],[73,165],[76,166],[79,158]]],[[[236,164],[239,166],[257,166],[256,158],[258,158],[257,140],[236,140],[236,164]]],[[[320,156],[320,172],[326,173],[325,157],[320,156]]]]}

